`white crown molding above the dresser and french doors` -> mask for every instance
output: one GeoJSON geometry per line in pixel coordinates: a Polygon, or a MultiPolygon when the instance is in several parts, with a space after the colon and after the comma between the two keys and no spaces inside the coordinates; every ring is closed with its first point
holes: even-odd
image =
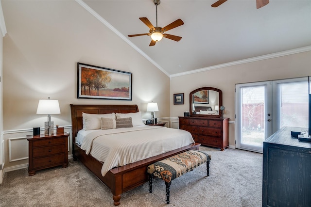
{"type": "Polygon", "coordinates": [[[285,56],[285,55],[292,55],[292,54],[296,54],[296,53],[300,53],[300,52],[307,52],[307,51],[311,51],[311,46],[307,46],[307,47],[303,47],[303,48],[290,49],[290,50],[286,50],[286,51],[282,51],[282,52],[276,52],[276,53],[272,53],[272,54],[268,54],[268,55],[262,55],[262,56],[258,56],[258,57],[254,57],[254,58],[247,58],[247,59],[243,59],[243,60],[239,60],[239,61],[233,61],[233,62],[229,62],[229,63],[225,63],[225,64],[213,65],[210,67],[204,67],[201,69],[191,70],[191,71],[187,71],[187,72],[183,72],[183,73],[176,73],[176,74],[171,75],[170,78],[177,77],[177,76],[189,75],[189,74],[193,74],[193,73],[200,73],[200,72],[207,71],[207,70],[214,70],[217,68],[228,67],[228,66],[237,65],[237,64],[245,64],[245,63],[251,63],[251,62],[266,60],[266,59],[270,59],[270,58],[277,58],[277,57],[281,57],[281,56],[285,56]]]}

